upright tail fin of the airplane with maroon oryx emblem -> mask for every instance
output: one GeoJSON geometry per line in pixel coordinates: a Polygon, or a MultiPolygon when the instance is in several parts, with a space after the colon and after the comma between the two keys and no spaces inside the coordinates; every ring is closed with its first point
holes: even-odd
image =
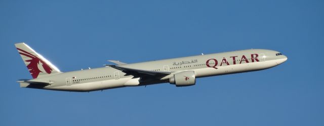
{"type": "Polygon", "coordinates": [[[60,73],[60,70],[42,55],[35,52],[25,43],[15,44],[18,53],[27,66],[32,78],[39,76],[60,73]]]}

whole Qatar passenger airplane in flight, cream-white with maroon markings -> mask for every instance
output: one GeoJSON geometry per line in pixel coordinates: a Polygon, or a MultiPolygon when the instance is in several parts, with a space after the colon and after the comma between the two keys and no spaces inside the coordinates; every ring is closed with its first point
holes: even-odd
{"type": "Polygon", "coordinates": [[[25,43],[15,44],[32,79],[20,79],[20,87],[68,92],[171,83],[176,87],[193,86],[196,78],[268,69],[287,61],[277,51],[249,49],[208,55],[115,65],[61,72],[50,61],[25,43]]]}

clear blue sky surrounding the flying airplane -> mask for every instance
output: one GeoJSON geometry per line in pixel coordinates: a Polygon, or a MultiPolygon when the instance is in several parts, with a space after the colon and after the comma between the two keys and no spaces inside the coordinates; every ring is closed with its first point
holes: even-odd
{"type": "Polygon", "coordinates": [[[0,125],[324,125],[324,1],[0,1],[0,125]],[[19,88],[24,41],[61,71],[242,49],[277,67],[103,92],[19,88]]]}

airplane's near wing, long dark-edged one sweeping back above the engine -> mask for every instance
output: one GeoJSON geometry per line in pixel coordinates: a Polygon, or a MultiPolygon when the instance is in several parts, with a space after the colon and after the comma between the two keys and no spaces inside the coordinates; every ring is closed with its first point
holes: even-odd
{"type": "Polygon", "coordinates": [[[110,66],[112,68],[121,70],[127,74],[131,75],[151,75],[151,76],[163,76],[163,75],[169,75],[171,72],[168,71],[149,71],[149,70],[141,70],[141,69],[133,69],[133,68],[126,68],[121,66],[115,66],[115,65],[106,65],[110,66]]]}

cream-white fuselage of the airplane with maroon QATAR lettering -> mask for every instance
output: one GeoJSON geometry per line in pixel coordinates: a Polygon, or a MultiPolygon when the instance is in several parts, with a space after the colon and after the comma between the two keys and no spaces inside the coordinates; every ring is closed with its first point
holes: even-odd
{"type": "Polygon", "coordinates": [[[44,87],[21,83],[21,87],[89,92],[96,90],[120,88],[127,86],[144,86],[169,82],[169,78],[182,71],[194,71],[196,77],[215,76],[231,73],[256,71],[274,67],[287,60],[284,55],[271,50],[242,50],[209,55],[199,55],[158,61],[119,65],[125,68],[147,71],[168,71],[165,76],[136,76],[112,67],[79,70],[65,73],[49,74],[33,81],[50,82],[44,87]]]}

